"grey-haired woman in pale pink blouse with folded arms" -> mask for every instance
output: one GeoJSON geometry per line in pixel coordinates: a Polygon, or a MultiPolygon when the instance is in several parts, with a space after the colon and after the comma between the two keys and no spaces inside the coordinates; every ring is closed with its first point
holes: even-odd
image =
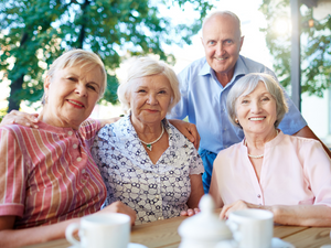
{"type": "Polygon", "coordinates": [[[210,194],[220,217],[242,208],[274,213],[275,223],[331,226],[331,161],[319,141],[284,134],[282,89],[267,74],[248,74],[227,96],[227,114],[245,139],[221,151],[210,194]]]}

